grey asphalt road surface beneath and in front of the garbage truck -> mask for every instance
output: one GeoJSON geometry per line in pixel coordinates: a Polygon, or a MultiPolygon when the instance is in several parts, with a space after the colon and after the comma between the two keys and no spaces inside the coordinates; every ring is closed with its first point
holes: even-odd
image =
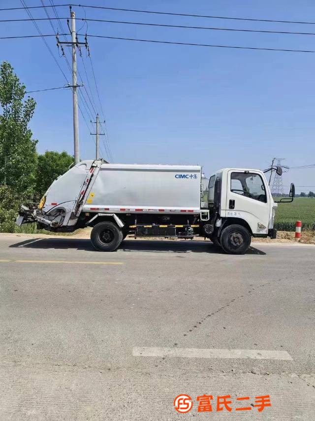
{"type": "Polygon", "coordinates": [[[0,420],[315,419],[315,246],[34,240],[0,237],[0,420]]]}

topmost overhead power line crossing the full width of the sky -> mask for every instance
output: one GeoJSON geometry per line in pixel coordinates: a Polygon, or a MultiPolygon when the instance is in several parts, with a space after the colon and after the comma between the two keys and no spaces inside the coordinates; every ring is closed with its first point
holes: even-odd
{"type": "MultiPolygon", "coordinates": [[[[250,21],[250,22],[273,22],[273,23],[294,23],[294,24],[302,24],[302,25],[315,25],[315,22],[310,21],[289,21],[289,20],[276,20],[276,19],[254,19],[254,18],[239,18],[239,17],[231,17],[231,16],[213,16],[213,15],[199,15],[199,14],[192,14],[192,13],[172,13],[172,12],[160,12],[156,10],[140,10],[140,9],[123,9],[118,7],[105,7],[105,6],[93,6],[87,4],[73,4],[73,3],[66,3],[66,4],[55,4],[55,5],[47,5],[44,7],[64,7],[64,6],[74,6],[74,7],[89,7],[93,9],[104,9],[104,10],[116,10],[116,11],[123,11],[123,12],[136,12],[136,13],[148,13],[148,14],[158,14],[158,15],[168,15],[168,16],[186,16],[186,17],[194,17],[194,18],[210,18],[210,19],[227,19],[227,20],[240,20],[240,21],[250,21]]],[[[43,6],[28,6],[29,9],[41,9],[43,6]]],[[[21,10],[23,7],[7,7],[1,8],[0,11],[4,10],[21,10]]]]}

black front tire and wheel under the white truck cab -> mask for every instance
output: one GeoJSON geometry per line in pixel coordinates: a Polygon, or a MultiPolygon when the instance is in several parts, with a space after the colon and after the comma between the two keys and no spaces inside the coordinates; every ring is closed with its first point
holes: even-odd
{"type": "Polygon", "coordinates": [[[228,225],[221,232],[221,247],[228,254],[244,254],[251,245],[251,234],[242,225],[228,225]]]}

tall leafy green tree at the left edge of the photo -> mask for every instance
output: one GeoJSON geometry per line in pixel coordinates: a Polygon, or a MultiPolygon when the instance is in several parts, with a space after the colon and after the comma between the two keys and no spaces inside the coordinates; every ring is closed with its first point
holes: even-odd
{"type": "Polygon", "coordinates": [[[12,66],[0,66],[0,185],[7,185],[20,198],[30,197],[35,185],[36,143],[28,128],[35,101],[25,97],[25,86],[12,66]]]}

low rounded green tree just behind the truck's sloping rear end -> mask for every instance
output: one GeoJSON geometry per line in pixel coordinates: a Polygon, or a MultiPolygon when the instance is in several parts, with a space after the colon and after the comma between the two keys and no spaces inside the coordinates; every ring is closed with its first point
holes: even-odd
{"type": "Polygon", "coordinates": [[[43,155],[38,155],[36,171],[36,195],[38,198],[44,195],[51,183],[64,174],[69,166],[74,162],[73,156],[65,151],[46,151],[43,155]]]}

